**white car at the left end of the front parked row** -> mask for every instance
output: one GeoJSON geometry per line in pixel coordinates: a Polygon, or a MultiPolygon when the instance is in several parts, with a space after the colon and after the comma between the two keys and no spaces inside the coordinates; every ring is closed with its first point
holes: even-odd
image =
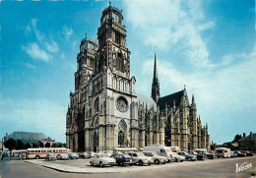
{"type": "Polygon", "coordinates": [[[114,166],[115,158],[110,157],[106,153],[96,153],[94,157],[91,158],[91,165],[99,165],[103,167],[104,165],[114,166]]]}

